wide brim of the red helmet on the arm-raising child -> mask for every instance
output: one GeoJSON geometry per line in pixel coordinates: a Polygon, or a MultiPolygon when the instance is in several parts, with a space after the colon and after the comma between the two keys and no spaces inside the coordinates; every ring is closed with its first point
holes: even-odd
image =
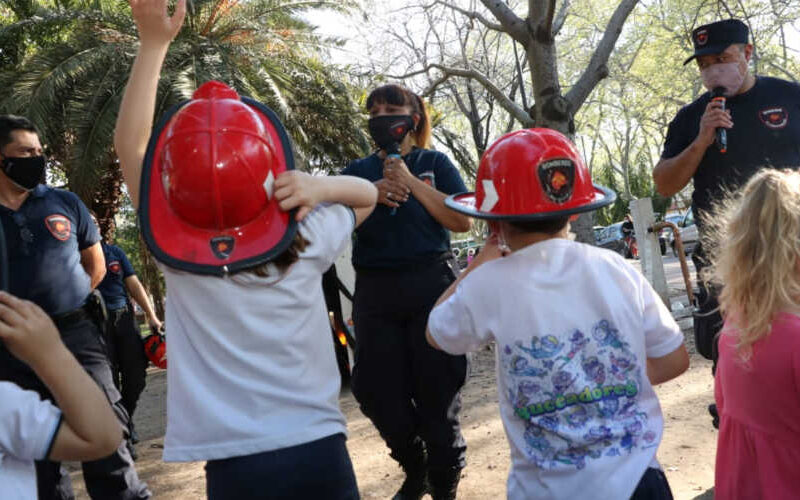
{"type": "MultiPolygon", "coordinates": [[[[275,142],[282,149],[286,170],[294,170],[292,142],[278,116],[258,101],[247,97],[241,100],[271,123],[275,142]]],[[[296,210],[265,212],[246,226],[236,228],[236,246],[240,251],[223,259],[213,255],[209,244],[219,236],[219,231],[189,225],[170,209],[160,179],[162,131],[189,102],[181,102],[164,114],[147,145],[139,195],[139,220],[144,242],[159,262],[194,274],[224,276],[269,262],[292,244],[297,233],[296,210]]]]}

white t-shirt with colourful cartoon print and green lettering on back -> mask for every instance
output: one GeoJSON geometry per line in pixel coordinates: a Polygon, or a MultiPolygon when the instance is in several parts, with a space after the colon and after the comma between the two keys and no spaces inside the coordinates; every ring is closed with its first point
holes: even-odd
{"type": "Polygon", "coordinates": [[[683,335],[617,254],[565,239],[528,246],[475,269],[428,327],[452,354],[497,343],[508,498],[629,498],[657,465],[663,418],[646,358],[683,335]]]}

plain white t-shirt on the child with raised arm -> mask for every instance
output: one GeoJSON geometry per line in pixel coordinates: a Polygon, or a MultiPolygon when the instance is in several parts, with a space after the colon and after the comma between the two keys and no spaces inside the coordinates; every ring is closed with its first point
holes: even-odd
{"type": "Polygon", "coordinates": [[[316,207],[299,225],[310,244],[283,275],[218,278],[161,266],[165,461],[252,455],[345,432],[321,276],[354,221],[343,205],[316,207]]]}

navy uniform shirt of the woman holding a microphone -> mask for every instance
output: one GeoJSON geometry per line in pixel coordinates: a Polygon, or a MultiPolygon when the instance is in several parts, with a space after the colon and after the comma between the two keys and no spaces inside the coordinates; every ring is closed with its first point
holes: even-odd
{"type": "MultiPolygon", "coordinates": [[[[466,191],[464,181],[446,155],[414,149],[403,157],[409,171],[446,194],[466,191]]],[[[371,182],[383,178],[383,160],[377,154],[350,163],[342,174],[371,182]]],[[[438,258],[450,250],[450,233],[425,207],[409,196],[394,215],[392,208],[378,204],[356,229],[353,265],[362,268],[402,268],[438,258]]]]}

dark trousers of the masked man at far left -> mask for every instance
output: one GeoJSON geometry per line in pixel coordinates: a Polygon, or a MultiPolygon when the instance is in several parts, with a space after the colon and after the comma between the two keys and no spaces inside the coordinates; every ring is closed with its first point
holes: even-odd
{"type": "MultiPolygon", "coordinates": [[[[103,390],[120,425],[127,433],[128,412],[122,406],[122,398],[114,387],[111,367],[97,324],[87,316],[69,325],[60,325],[59,331],[64,344],[103,390]]],[[[14,358],[5,349],[0,353],[0,380],[14,382],[23,389],[36,391],[42,398],[55,402],[50,391],[28,365],[14,358]]],[[[84,462],[82,467],[86,490],[93,499],[129,500],[151,496],[147,485],[139,480],[124,441],[120,442],[117,451],[112,455],[84,462]]],[[[36,462],[36,480],[40,500],[64,500],[75,497],[69,474],[59,462],[50,460],[36,462]]]]}

